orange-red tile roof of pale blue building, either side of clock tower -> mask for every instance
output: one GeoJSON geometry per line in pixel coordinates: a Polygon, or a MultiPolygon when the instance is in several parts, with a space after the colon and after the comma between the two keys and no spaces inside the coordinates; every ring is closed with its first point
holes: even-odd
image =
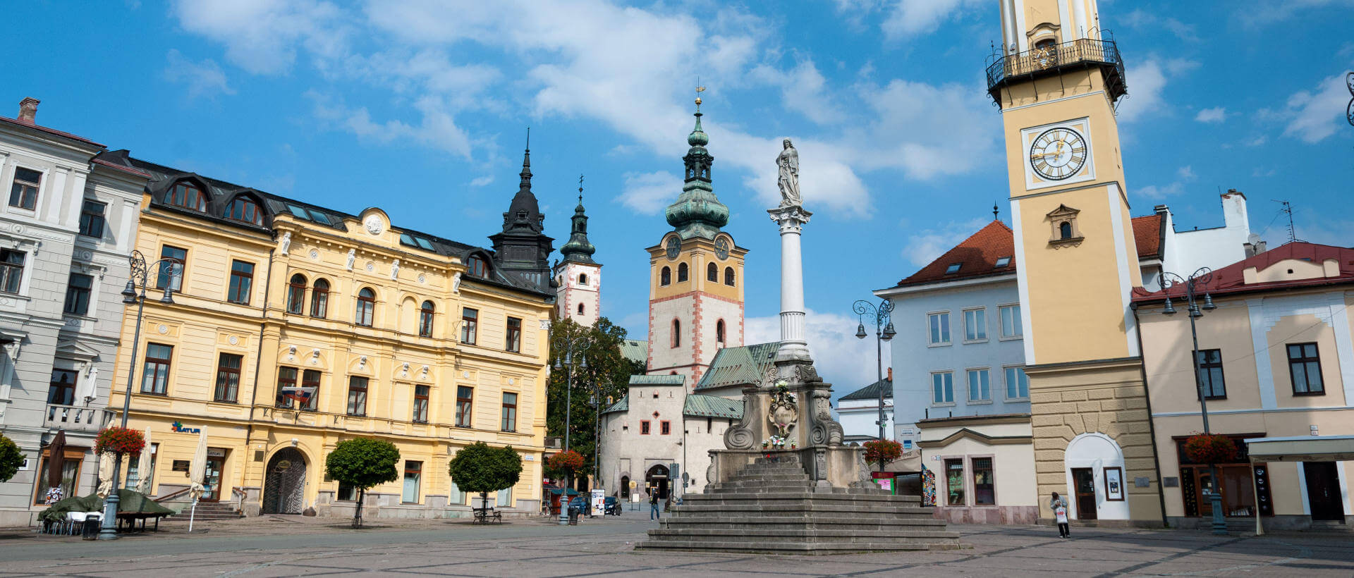
{"type": "MultiPolygon", "coordinates": [[[[1162,223],[1160,214],[1133,218],[1133,241],[1137,245],[1137,256],[1160,257],[1162,250],[1162,223]]],[[[898,282],[896,287],[919,286],[926,283],[944,283],[956,279],[974,279],[988,275],[1002,275],[1016,272],[1016,241],[1014,233],[1006,223],[992,221],[965,238],[953,249],[946,250],[940,259],[922,267],[921,271],[898,282]],[[1011,257],[1005,267],[997,267],[1001,257],[1011,257]],[[945,273],[949,265],[959,264],[959,271],[945,273]]]]}

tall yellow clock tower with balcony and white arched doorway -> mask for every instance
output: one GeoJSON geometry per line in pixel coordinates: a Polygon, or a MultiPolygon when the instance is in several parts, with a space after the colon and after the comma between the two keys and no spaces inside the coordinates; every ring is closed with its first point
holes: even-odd
{"type": "Polygon", "coordinates": [[[1001,0],[1002,108],[1041,517],[1160,524],[1137,328],[1141,286],[1114,104],[1124,62],[1095,0],[1001,0]]]}

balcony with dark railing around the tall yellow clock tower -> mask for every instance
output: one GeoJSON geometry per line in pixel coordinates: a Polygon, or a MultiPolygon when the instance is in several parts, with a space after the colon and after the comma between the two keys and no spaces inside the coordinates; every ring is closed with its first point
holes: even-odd
{"type": "MultiPolygon", "coordinates": [[[[1108,32],[1106,32],[1108,35],[1108,32]]],[[[1128,93],[1124,83],[1124,60],[1113,39],[1082,38],[1060,45],[1039,46],[1022,53],[997,57],[987,66],[987,93],[1002,103],[1003,88],[1068,70],[1098,68],[1112,103],[1128,93]]]]}

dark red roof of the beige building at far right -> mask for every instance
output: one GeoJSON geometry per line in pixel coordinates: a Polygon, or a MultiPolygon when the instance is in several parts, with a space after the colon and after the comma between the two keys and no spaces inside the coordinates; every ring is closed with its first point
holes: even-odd
{"type": "MultiPolygon", "coordinates": [[[[1212,279],[1209,279],[1208,283],[1196,287],[1194,291],[1196,294],[1209,292],[1213,295],[1227,295],[1227,294],[1273,291],[1273,290],[1286,290],[1286,288],[1300,288],[1300,287],[1319,287],[1319,286],[1347,284],[1347,283],[1354,283],[1354,249],[1294,241],[1288,245],[1270,249],[1265,253],[1243,259],[1231,265],[1213,271],[1212,279]],[[1258,272],[1263,272],[1269,267],[1289,259],[1311,261],[1317,265],[1320,265],[1328,259],[1334,259],[1339,264],[1340,273],[1334,277],[1323,276],[1315,279],[1294,279],[1294,280],[1246,284],[1244,282],[1246,269],[1254,267],[1258,272]]],[[[1135,302],[1156,302],[1164,299],[1166,296],[1177,299],[1183,298],[1185,286],[1177,284],[1164,291],[1148,292],[1141,288],[1133,291],[1135,302]]]]}

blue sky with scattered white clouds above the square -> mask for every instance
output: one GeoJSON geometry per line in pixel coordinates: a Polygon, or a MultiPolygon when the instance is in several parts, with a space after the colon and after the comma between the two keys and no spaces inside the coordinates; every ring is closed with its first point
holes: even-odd
{"type": "MultiPolygon", "coordinates": [[[[620,4],[371,0],[27,1],[0,39],[0,103],[154,162],[487,245],[532,127],[547,233],[567,238],[578,175],[603,314],[646,334],[647,254],[680,192],[693,88],[727,230],[749,248],[749,341],[774,338],[774,157],[803,164],[810,338],[838,394],[873,380],[854,299],[1007,217],[984,58],[990,0],[620,4]]],[[[1133,214],[1350,245],[1354,3],[1102,0],[1128,65],[1120,104],[1133,214]]],[[[921,322],[899,319],[899,330],[921,322]]]]}

